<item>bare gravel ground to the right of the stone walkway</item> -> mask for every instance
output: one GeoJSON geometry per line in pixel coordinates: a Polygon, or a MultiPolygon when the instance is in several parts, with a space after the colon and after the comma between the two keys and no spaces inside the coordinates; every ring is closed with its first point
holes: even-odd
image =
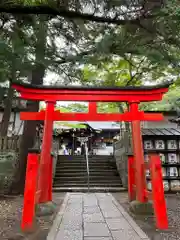
{"type": "Polygon", "coordinates": [[[113,193],[114,197],[119,201],[128,213],[134,218],[136,223],[152,240],[177,240],[180,239],[180,195],[166,195],[169,229],[159,231],[155,227],[154,218],[134,216],[129,212],[129,203],[127,193],[113,193]]]}

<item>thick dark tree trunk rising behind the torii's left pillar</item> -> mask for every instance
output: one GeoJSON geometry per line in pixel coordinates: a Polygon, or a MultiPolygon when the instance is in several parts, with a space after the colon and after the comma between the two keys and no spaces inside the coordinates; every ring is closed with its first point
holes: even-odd
{"type": "MultiPolygon", "coordinates": [[[[37,38],[36,42],[36,64],[32,71],[31,84],[42,85],[43,78],[45,75],[44,67],[44,58],[45,58],[45,49],[46,49],[46,34],[47,34],[47,25],[44,21],[44,16],[39,17],[39,23],[36,23],[35,26],[35,35],[37,38]]],[[[27,111],[37,112],[39,110],[38,101],[29,101],[27,103],[27,111]]],[[[36,126],[37,121],[25,121],[24,129],[22,135],[22,141],[20,145],[20,156],[19,156],[19,170],[17,173],[17,181],[13,188],[13,191],[16,193],[23,193],[24,183],[25,183],[25,174],[26,174],[26,163],[28,149],[32,148],[35,144],[36,139],[36,126]]]]}

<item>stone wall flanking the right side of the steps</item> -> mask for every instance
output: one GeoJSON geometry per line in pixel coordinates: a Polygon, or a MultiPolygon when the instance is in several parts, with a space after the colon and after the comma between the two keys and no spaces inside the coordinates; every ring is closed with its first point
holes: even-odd
{"type": "Polygon", "coordinates": [[[132,152],[131,138],[124,132],[121,139],[114,144],[114,157],[124,188],[128,188],[128,154],[132,152]]]}

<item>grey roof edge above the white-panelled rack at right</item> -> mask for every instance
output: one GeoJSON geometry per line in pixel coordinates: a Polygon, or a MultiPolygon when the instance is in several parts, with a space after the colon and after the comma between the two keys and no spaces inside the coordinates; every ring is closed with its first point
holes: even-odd
{"type": "Polygon", "coordinates": [[[180,136],[180,130],[175,128],[142,128],[143,136],[180,136]]]}

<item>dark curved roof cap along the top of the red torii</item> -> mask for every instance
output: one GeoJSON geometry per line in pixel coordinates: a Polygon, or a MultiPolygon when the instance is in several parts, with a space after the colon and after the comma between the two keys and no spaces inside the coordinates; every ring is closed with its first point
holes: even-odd
{"type": "Polygon", "coordinates": [[[167,81],[163,84],[157,85],[150,85],[150,86],[114,86],[114,87],[107,87],[107,86],[66,86],[66,85],[35,85],[35,84],[28,84],[28,83],[19,83],[13,82],[16,86],[21,86],[27,89],[44,89],[44,90],[115,90],[115,91],[122,91],[122,90],[131,90],[131,91],[148,91],[153,89],[161,89],[161,88],[168,88],[173,82],[167,81]]]}

